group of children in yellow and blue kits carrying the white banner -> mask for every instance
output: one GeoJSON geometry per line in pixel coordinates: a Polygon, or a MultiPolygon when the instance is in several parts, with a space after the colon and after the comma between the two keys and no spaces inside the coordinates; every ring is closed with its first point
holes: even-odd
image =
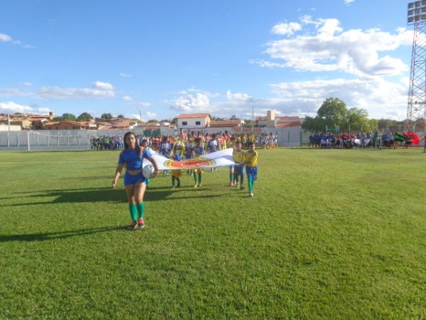
{"type": "MultiPolygon", "coordinates": [[[[243,151],[242,139],[233,137],[229,134],[225,139],[219,140],[217,134],[212,134],[207,141],[204,137],[185,137],[181,136],[175,142],[171,143],[168,137],[163,137],[160,143],[159,152],[168,159],[182,161],[182,159],[192,159],[197,156],[203,156],[205,153],[212,153],[220,149],[233,148],[233,157],[236,165],[229,167],[229,186],[237,186],[240,189],[244,188],[244,171],[247,175],[247,183],[249,186],[249,195],[253,196],[253,185],[257,179],[257,159],[258,153],[255,151],[255,139],[249,137],[247,142],[248,151],[243,151]],[[228,139],[226,139],[228,138],[228,139]],[[204,146],[206,146],[204,148],[204,146]],[[207,150],[207,152],[206,152],[207,150]]],[[[216,171],[216,169],[212,169],[216,171]]],[[[168,174],[168,171],[164,171],[168,174]]],[[[187,174],[194,177],[194,188],[202,186],[203,169],[188,170],[187,174]]],[[[180,179],[182,178],[182,170],[172,170],[172,188],[180,187],[180,179]]]]}

